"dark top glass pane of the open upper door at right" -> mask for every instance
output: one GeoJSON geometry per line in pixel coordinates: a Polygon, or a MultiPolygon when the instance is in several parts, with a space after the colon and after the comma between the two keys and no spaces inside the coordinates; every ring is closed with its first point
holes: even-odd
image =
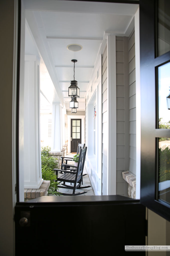
{"type": "Polygon", "coordinates": [[[170,1],[158,0],[158,56],[170,51],[170,1]]]}

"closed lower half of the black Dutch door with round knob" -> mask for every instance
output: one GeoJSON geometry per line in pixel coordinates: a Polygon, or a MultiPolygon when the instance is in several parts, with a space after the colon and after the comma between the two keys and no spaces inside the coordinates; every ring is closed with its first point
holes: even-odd
{"type": "Polygon", "coordinates": [[[120,195],[17,202],[15,255],[132,255],[125,246],[145,245],[145,217],[146,207],[139,200],[120,195]]]}

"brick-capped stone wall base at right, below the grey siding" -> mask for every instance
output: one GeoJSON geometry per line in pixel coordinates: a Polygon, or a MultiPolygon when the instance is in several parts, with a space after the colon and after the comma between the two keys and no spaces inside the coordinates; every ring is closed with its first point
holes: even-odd
{"type": "Polygon", "coordinates": [[[128,196],[136,199],[136,177],[127,171],[122,172],[122,176],[128,183],[128,196]]]}

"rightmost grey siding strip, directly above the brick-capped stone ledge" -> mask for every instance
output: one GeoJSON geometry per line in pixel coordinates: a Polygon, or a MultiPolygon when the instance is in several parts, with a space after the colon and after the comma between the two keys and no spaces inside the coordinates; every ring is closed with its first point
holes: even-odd
{"type": "Polygon", "coordinates": [[[135,31],[129,38],[129,172],[136,175],[136,77],[135,77],[135,31]]]}

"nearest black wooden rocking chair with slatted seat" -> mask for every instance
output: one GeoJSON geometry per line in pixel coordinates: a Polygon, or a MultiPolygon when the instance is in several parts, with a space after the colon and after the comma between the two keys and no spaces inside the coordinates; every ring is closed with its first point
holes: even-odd
{"type": "MultiPolygon", "coordinates": [[[[64,196],[82,195],[82,194],[85,194],[87,192],[84,191],[84,192],[80,192],[80,193],[75,193],[76,188],[80,189],[80,188],[89,188],[89,187],[91,187],[91,186],[81,187],[86,151],[87,151],[87,147],[85,147],[84,149],[80,150],[79,162],[78,162],[78,165],[76,167],[76,173],[75,172],[71,172],[71,171],[65,169],[64,173],[60,177],[58,177],[58,171],[61,171],[61,170],[54,169],[56,171],[56,175],[57,175],[57,180],[56,181],[58,183],[63,182],[61,184],[62,186],[58,185],[58,187],[59,188],[73,189],[73,193],[72,194],[60,193],[59,192],[61,195],[64,195],[64,196]],[[65,184],[66,182],[71,183],[71,184],[73,183],[74,186],[67,185],[67,184],[65,184]]],[[[64,164],[64,165],[65,165],[65,168],[66,168],[66,164],[64,164]]],[[[67,167],[75,167],[75,166],[74,165],[67,165],[67,167]]]]}

